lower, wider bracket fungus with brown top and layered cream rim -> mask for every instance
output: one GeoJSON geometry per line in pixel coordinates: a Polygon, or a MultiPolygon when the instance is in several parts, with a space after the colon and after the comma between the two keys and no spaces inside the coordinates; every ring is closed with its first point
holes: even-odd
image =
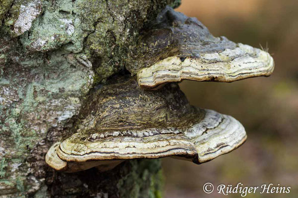
{"type": "Polygon", "coordinates": [[[135,78],[101,87],[84,102],[77,133],[49,149],[56,170],[108,170],[126,159],[184,157],[203,163],[246,140],[233,117],[189,104],[176,83],[145,91],[135,78]]]}

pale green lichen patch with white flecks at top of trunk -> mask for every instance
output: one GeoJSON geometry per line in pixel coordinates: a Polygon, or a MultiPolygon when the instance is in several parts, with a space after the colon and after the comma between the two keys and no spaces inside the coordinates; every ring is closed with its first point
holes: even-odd
{"type": "Polygon", "coordinates": [[[83,48],[84,31],[81,18],[77,17],[72,0],[44,1],[43,15],[32,24],[21,42],[30,51],[49,51],[66,45],[72,52],[83,48]]]}

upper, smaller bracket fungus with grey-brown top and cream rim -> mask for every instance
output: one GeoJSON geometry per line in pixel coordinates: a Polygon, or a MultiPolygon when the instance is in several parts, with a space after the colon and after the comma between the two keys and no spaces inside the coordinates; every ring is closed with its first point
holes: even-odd
{"type": "Polygon", "coordinates": [[[127,63],[143,88],[181,80],[233,82],[273,72],[268,52],[214,37],[196,18],[170,7],[149,27],[129,49],[127,63]]]}

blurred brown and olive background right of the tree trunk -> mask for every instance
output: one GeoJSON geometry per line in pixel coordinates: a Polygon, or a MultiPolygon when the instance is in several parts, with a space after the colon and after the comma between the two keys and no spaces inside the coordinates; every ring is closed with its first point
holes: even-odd
{"type": "Polygon", "coordinates": [[[268,43],[275,60],[271,77],[233,83],[183,81],[190,103],[232,115],[246,129],[240,148],[196,165],[163,159],[165,198],[239,198],[205,194],[203,185],[290,186],[298,197],[298,0],[182,0],[177,11],[197,17],[214,36],[260,48],[268,43]]]}

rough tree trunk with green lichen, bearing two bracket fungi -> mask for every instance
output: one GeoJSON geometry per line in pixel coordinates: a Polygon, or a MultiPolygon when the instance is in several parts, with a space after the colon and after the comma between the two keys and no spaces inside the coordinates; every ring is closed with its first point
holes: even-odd
{"type": "Polygon", "coordinates": [[[44,156],[166,4],[179,2],[0,0],[0,198],[160,197],[159,160],[59,173],[44,156]]]}

